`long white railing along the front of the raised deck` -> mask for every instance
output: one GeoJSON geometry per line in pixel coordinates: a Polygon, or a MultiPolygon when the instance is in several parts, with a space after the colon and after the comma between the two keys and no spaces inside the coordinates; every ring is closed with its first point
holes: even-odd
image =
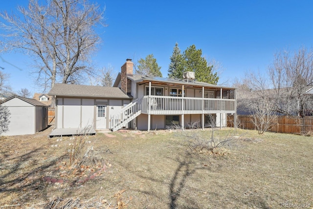
{"type": "Polygon", "coordinates": [[[141,113],[151,115],[235,113],[235,102],[235,99],[144,96],[141,113]]]}

